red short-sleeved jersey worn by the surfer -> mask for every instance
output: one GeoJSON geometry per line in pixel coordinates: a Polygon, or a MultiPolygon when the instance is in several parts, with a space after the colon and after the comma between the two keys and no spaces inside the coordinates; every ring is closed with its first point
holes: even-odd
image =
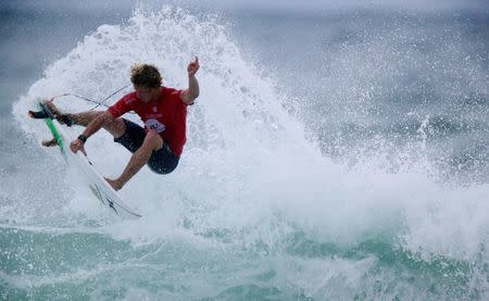
{"type": "Polygon", "coordinates": [[[184,150],[187,127],[187,104],[180,99],[181,90],[161,87],[161,98],[143,102],[136,91],[121,98],[108,111],[114,117],[129,111],[136,112],[145,123],[145,129],[156,129],[172,152],[180,156],[184,150]]]}

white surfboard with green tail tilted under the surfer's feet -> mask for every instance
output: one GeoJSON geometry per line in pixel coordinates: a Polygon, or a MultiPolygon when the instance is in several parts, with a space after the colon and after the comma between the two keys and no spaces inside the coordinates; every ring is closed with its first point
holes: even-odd
{"type": "MultiPolygon", "coordinates": [[[[65,129],[65,125],[62,125],[57,121],[46,104],[39,102],[38,105],[41,111],[29,111],[29,115],[34,118],[45,120],[45,123],[53,137],[53,139],[49,142],[58,146],[66,163],[74,166],[80,173],[90,191],[102,203],[102,205],[123,218],[141,217],[141,214],[134,211],[121,199],[117,192],[105,181],[101,173],[97,170],[87,155],[80,151],[74,153],[70,150],[68,143],[75,138],[65,129]]],[[[43,145],[48,143],[43,142],[43,145]]]]}

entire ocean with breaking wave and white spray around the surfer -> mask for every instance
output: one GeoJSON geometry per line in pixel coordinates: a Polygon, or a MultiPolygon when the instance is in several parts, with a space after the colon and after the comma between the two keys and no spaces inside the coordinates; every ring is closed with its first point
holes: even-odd
{"type": "MultiPolygon", "coordinates": [[[[484,1],[0,8],[0,300],[489,299],[484,1]],[[185,88],[193,55],[180,164],[135,176],[143,217],[120,220],[26,112],[103,100],[136,62],[185,88]]],[[[129,159],[103,131],[87,152],[129,159]]]]}

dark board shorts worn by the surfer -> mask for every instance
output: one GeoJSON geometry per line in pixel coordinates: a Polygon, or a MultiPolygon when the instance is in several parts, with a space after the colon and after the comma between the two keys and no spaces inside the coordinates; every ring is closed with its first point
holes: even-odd
{"type": "MultiPolygon", "coordinates": [[[[114,142],[122,145],[128,151],[134,153],[142,146],[146,130],[141,126],[126,118],[123,118],[123,121],[126,125],[126,131],[123,136],[114,138],[114,142]]],[[[179,159],[179,156],[173,154],[166,143],[163,143],[161,149],[153,151],[147,164],[148,167],[156,174],[170,174],[178,165],[179,159]]]]}

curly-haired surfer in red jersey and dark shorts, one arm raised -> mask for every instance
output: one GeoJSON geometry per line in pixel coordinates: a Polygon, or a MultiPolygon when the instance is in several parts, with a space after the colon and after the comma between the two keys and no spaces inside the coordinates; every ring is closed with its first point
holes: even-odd
{"type": "Polygon", "coordinates": [[[105,177],[112,188],[120,190],[145,164],[156,174],[172,173],[178,165],[186,142],[187,105],[193,104],[199,97],[196,78],[199,67],[196,57],[187,66],[188,88],[178,90],[162,86],[162,77],[155,66],[134,65],[130,81],[135,91],[121,98],[106,111],[62,113],[52,100],[47,101],[46,105],[58,121],[86,127],[71,142],[73,152],[85,153],[87,139],[102,127],[114,137],[115,142],[133,152],[120,177],[105,177]],[[122,117],[129,111],[139,115],[145,127],[122,117]]]}

